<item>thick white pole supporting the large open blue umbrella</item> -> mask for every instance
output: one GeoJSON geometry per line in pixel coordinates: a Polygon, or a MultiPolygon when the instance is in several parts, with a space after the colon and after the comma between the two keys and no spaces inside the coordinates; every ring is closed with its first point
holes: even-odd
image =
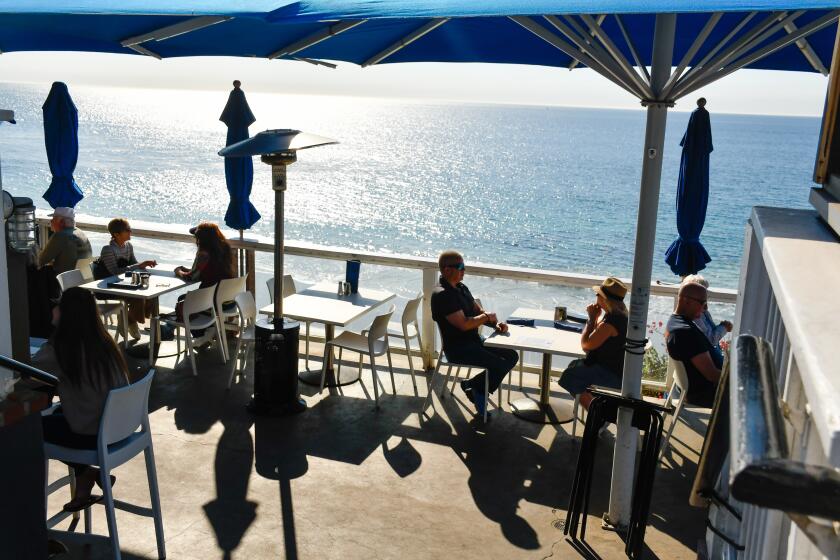
{"type": "MultiPolygon", "coordinates": [[[[657,14],[651,66],[651,87],[657,97],[647,101],[645,153],[642,159],[630,315],[627,322],[628,346],[624,354],[624,375],[621,382],[621,394],[635,398],[641,396],[642,388],[642,362],[656,239],[659,184],[662,176],[662,150],[665,146],[665,123],[670,105],[667,100],[659,99],[659,96],[671,74],[675,31],[675,14],[657,14]],[[638,341],[639,345],[633,348],[635,341],[638,341]]],[[[613,455],[610,507],[605,521],[619,530],[625,529],[629,524],[633,499],[633,475],[639,436],[638,430],[631,426],[632,418],[632,410],[618,409],[618,435],[613,455]]]]}

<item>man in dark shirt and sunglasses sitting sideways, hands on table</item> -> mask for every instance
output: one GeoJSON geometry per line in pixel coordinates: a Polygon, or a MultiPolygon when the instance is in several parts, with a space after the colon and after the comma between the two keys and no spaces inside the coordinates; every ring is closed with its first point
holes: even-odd
{"type": "MultiPolygon", "coordinates": [[[[490,376],[488,391],[492,393],[519,361],[519,356],[509,348],[485,348],[478,329],[481,325],[491,325],[506,332],[507,325],[498,322],[495,313],[484,311],[463,284],[464,258],[459,253],[441,253],[438,268],[440,281],[432,292],[432,318],[440,329],[443,352],[452,362],[485,368],[490,376]]],[[[461,383],[467,398],[481,415],[487,406],[484,401],[485,375],[481,373],[461,383]]]]}

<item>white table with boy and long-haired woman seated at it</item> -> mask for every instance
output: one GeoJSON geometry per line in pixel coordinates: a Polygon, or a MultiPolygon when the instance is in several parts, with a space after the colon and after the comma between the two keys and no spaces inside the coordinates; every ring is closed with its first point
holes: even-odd
{"type": "Polygon", "coordinates": [[[82,288],[90,290],[95,294],[101,294],[113,299],[135,298],[152,302],[153,310],[150,324],[151,328],[149,329],[149,364],[154,364],[155,341],[160,340],[160,305],[158,298],[163,294],[198,283],[191,280],[183,280],[175,276],[176,267],[177,265],[174,264],[159,264],[154,268],[143,270],[143,272],[149,273],[148,288],[126,290],[108,286],[108,284],[114,282],[130,283],[131,279],[126,278],[125,275],[109,276],[102,280],[93,280],[92,282],[81,285],[82,288]]]}

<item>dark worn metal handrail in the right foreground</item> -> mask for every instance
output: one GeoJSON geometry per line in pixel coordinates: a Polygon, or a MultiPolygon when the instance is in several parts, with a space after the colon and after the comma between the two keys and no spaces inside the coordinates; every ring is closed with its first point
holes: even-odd
{"type": "Polygon", "coordinates": [[[730,492],[794,516],[840,520],[840,473],[789,458],[770,345],[741,335],[731,354],[730,492]]]}

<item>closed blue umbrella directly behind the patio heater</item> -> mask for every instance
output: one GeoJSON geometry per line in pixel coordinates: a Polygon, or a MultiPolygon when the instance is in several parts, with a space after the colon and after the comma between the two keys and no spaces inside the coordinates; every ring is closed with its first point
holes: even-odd
{"type": "MultiPolygon", "coordinates": [[[[240,82],[233,82],[233,90],[219,120],[228,127],[226,146],[249,137],[248,127],[257,119],[251,113],[240,82]]],[[[260,219],[260,213],[251,204],[251,185],[254,181],[254,161],[251,157],[226,157],[225,182],[230,193],[230,204],[225,212],[225,224],[232,229],[249,229],[260,219]]]]}

